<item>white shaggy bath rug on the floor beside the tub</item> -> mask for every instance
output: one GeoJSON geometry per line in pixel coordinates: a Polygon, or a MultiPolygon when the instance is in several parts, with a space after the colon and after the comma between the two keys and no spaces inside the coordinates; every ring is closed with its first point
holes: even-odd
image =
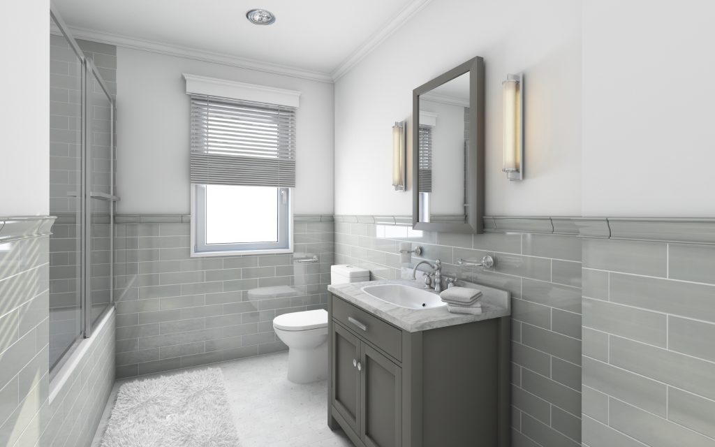
{"type": "Polygon", "coordinates": [[[209,368],[122,385],[101,446],[239,446],[221,370],[209,368]]]}

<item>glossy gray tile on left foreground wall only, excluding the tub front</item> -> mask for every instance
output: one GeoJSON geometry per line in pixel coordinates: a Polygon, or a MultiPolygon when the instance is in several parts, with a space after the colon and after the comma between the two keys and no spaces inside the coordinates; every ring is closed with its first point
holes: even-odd
{"type": "Polygon", "coordinates": [[[49,397],[52,217],[0,217],[0,446],[34,446],[49,397]]]}

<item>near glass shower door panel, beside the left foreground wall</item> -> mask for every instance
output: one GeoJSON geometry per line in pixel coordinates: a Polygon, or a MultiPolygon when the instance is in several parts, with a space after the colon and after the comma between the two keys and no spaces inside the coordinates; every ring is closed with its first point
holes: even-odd
{"type": "Polygon", "coordinates": [[[50,27],[49,367],[82,339],[82,84],[84,64],[50,27]]]}

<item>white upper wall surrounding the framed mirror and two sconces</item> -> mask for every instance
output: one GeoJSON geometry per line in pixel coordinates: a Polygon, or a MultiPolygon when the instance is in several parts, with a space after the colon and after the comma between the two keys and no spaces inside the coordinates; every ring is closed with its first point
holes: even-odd
{"type": "Polygon", "coordinates": [[[390,186],[391,126],[410,117],[415,87],[475,56],[486,67],[486,212],[581,215],[581,1],[575,0],[433,0],[339,79],[336,214],[411,214],[412,194],[390,186]],[[508,182],[501,172],[501,82],[511,72],[526,75],[523,182],[508,182]]]}

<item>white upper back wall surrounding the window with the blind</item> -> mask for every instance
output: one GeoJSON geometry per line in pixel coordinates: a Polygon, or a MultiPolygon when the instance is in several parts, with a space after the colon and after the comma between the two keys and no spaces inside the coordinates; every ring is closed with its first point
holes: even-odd
{"type": "Polygon", "coordinates": [[[333,211],[333,86],[117,48],[117,192],[122,214],[189,213],[189,97],[182,73],[298,90],[297,214],[333,211]]]}

